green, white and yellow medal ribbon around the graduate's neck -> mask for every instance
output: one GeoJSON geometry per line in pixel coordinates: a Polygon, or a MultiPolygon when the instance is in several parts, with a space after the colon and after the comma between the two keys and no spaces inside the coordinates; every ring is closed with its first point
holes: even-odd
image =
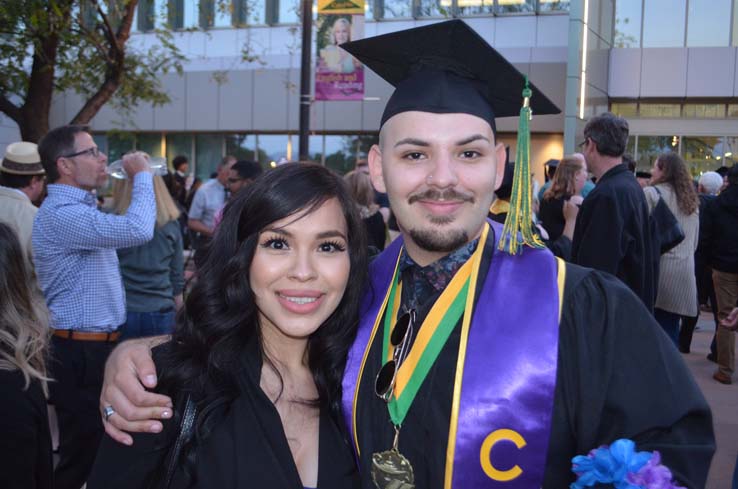
{"type": "MultiPolygon", "coordinates": [[[[418,330],[407,358],[397,371],[394,393],[387,406],[390,418],[396,426],[402,425],[420,386],[423,385],[423,381],[435,364],[448,337],[464,314],[470,278],[472,271],[479,268],[478,264],[482,257],[488,229],[489,226],[485,225],[479,240],[480,245],[477,246],[471,259],[456,272],[449,285],[433,304],[418,330]]],[[[393,328],[392,323],[397,318],[401,295],[402,284],[399,283],[399,273],[395,269],[388,301],[388,304],[392,304],[392,310],[391,313],[385,314],[384,318],[382,358],[387,360],[391,360],[394,353],[390,335],[393,328]]]]}

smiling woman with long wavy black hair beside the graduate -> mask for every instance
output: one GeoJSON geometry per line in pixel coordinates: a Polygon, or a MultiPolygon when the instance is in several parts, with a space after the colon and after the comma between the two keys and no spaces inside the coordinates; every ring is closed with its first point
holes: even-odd
{"type": "Polygon", "coordinates": [[[180,411],[133,446],[106,437],[88,488],[162,487],[188,398],[169,487],[358,487],[338,416],[366,267],[363,223],[330,170],[287,164],[239,192],[154,350],[180,411]]]}

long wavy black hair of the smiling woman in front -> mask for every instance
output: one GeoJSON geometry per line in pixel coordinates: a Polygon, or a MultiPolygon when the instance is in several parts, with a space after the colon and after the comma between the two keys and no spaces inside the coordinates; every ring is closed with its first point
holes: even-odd
{"type": "MultiPolygon", "coordinates": [[[[253,338],[261,344],[249,282],[259,233],[269,224],[312,212],[333,198],[347,223],[351,279],[336,310],[308,339],[308,366],[320,408],[339,415],[341,377],[356,334],[367,273],[364,224],[341,177],[320,165],[288,163],[257,178],[226,206],[197,282],[177,317],[172,346],[162,358],[160,389],[173,396],[185,392],[197,403],[199,415],[190,445],[211,431],[210,414],[237,396],[235,373],[246,344],[253,338]]],[[[263,348],[261,352],[263,360],[269,361],[263,348]]]]}

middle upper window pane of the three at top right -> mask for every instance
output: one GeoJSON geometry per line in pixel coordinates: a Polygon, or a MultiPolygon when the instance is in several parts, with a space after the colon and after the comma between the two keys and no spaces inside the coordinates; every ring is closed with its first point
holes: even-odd
{"type": "Polygon", "coordinates": [[[643,47],[684,46],[686,0],[644,0],[643,47]]]}

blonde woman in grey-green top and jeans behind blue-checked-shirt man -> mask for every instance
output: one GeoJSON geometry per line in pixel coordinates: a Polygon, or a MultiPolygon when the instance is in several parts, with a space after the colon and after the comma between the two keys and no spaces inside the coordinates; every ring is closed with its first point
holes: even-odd
{"type": "MultiPolygon", "coordinates": [[[[113,212],[125,214],[131,203],[129,180],[113,183],[113,212]]],[[[122,338],[169,334],[182,303],[184,259],[179,209],[162,177],[154,176],[156,229],[148,243],[118,250],[126,289],[126,325],[122,338]]]]}

